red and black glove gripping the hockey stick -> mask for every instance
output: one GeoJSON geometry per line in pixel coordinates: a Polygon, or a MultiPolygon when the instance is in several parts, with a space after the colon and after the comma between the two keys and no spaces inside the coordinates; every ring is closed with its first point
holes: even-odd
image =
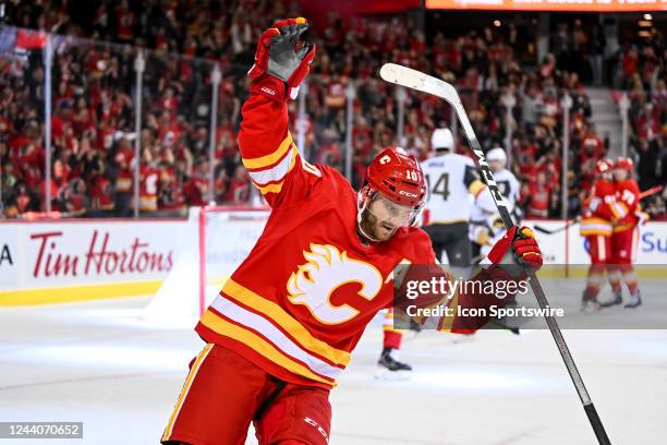
{"type": "Polygon", "coordinates": [[[542,267],[542,251],[533,230],[523,226],[512,227],[488,252],[494,264],[525,264],[537,270],[542,267]]]}

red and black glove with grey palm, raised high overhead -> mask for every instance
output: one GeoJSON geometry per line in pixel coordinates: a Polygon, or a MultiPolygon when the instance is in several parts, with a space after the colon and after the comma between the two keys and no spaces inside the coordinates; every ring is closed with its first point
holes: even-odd
{"type": "Polygon", "coordinates": [[[304,38],[308,26],[304,17],[287,19],[262,34],[255,63],[247,72],[254,80],[251,91],[275,100],[296,98],[315,58],[315,44],[304,38]]]}

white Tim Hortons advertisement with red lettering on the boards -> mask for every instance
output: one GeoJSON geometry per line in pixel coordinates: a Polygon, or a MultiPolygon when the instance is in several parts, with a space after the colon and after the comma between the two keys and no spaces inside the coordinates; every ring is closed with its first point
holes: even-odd
{"type": "Polygon", "coordinates": [[[0,304],[16,291],[161,280],[181,220],[0,224],[0,304]]]}

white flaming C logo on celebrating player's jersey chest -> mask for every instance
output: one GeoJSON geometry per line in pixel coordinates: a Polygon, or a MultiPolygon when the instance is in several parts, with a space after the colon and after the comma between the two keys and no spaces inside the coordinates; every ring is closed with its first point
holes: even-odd
{"type": "Polygon", "coordinates": [[[300,265],[288,280],[289,299],[308,308],[322,323],[344,323],[359,314],[349,304],[331,304],[331,293],[340,286],[359,282],[359,296],[366,300],[373,300],[380,291],[383,277],[373,265],[351,260],[333,245],[311,244],[311,251],[304,251],[303,256],[307,263],[300,265]]]}

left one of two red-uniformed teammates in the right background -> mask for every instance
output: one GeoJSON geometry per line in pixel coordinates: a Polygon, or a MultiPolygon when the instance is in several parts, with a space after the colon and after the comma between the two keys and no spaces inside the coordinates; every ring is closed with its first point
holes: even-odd
{"type": "Polygon", "coordinates": [[[611,180],[611,161],[601,159],[595,164],[596,179],[591,193],[584,202],[580,233],[589,243],[591,266],[586,278],[586,288],[581,300],[582,311],[599,309],[597,294],[603,282],[607,265],[611,263],[611,227],[618,217],[616,193],[611,180]],[[616,212],[616,213],[615,213],[616,212]]]}

